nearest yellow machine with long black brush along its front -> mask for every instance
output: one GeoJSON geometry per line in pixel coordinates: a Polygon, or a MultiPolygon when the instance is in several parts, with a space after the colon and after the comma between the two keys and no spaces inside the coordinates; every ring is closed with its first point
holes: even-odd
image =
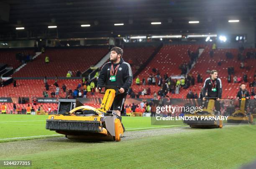
{"type": "Polygon", "coordinates": [[[46,120],[46,129],[64,134],[68,139],[120,141],[124,132],[120,119],[113,112],[106,115],[114,98],[115,90],[107,89],[100,108],[79,106],[65,114],[50,115],[46,120]],[[94,114],[81,115],[84,111],[94,114]]]}

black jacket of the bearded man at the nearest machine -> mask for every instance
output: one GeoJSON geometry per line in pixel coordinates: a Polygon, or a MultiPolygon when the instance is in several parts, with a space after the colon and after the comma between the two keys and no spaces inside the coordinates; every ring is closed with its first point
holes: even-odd
{"type": "Polygon", "coordinates": [[[133,72],[129,63],[123,61],[123,58],[120,59],[119,63],[114,63],[113,68],[115,70],[116,66],[119,66],[118,71],[115,76],[115,82],[110,81],[110,69],[111,69],[111,62],[105,63],[102,66],[100,75],[98,78],[97,86],[120,86],[124,88],[125,93],[127,93],[128,88],[131,86],[133,81],[133,72]]]}

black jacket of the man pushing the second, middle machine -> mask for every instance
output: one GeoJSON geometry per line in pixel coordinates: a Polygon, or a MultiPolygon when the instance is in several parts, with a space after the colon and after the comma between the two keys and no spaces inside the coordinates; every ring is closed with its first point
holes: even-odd
{"type": "Polygon", "coordinates": [[[207,97],[221,98],[222,84],[221,84],[220,78],[217,78],[212,82],[211,82],[211,78],[205,79],[205,83],[204,83],[204,87],[203,87],[204,90],[203,90],[202,96],[205,97],[205,93],[206,93],[206,89],[207,89],[207,93],[208,93],[207,97]],[[215,88],[217,89],[217,91],[212,91],[212,82],[216,83],[215,88]]]}

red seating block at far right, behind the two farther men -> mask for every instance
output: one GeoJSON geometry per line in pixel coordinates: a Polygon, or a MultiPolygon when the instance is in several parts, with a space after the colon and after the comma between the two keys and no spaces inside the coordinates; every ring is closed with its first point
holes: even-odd
{"type": "MultiPolygon", "coordinates": [[[[255,51],[255,49],[245,49],[243,55],[246,55],[247,51],[255,51]]],[[[247,62],[248,69],[241,69],[241,62],[238,61],[238,49],[216,49],[214,51],[214,56],[211,58],[209,55],[210,47],[205,48],[205,51],[202,53],[201,57],[198,59],[195,66],[192,68],[190,73],[196,77],[197,73],[205,78],[209,77],[209,74],[206,73],[207,68],[210,70],[214,69],[218,71],[218,76],[222,81],[223,85],[223,96],[222,98],[235,97],[241,83],[244,83],[243,80],[241,83],[233,83],[233,76],[241,77],[243,79],[243,73],[246,73],[248,76],[247,89],[249,90],[249,82],[253,81],[254,71],[256,60],[254,58],[248,58],[245,61],[247,62]],[[226,58],[226,53],[231,52],[233,58],[226,58]],[[218,61],[221,61],[221,66],[218,66],[218,61]],[[231,75],[231,83],[228,83],[228,67],[234,67],[234,75],[231,75]]],[[[200,88],[203,84],[197,83],[197,88],[195,89],[197,93],[200,92],[200,88]]],[[[188,89],[189,90],[189,89],[188,89]]],[[[188,91],[187,90],[187,91],[188,91]]]]}

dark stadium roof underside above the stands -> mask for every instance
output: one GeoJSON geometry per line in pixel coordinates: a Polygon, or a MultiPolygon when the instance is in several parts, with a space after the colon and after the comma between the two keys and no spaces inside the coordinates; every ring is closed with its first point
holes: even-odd
{"type": "Polygon", "coordinates": [[[256,19],[255,0],[0,0],[0,3],[10,5],[9,21],[0,22],[0,38],[18,31],[38,37],[54,34],[56,30],[63,38],[95,33],[103,36],[210,33],[218,22],[256,19]],[[189,21],[200,23],[189,24],[189,21]],[[151,22],[161,24],[151,25],[151,22]],[[90,27],[81,27],[85,24],[90,27]],[[57,28],[50,30],[48,26],[52,25],[57,28]],[[25,29],[15,30],[16,27],[25,29]]]}

